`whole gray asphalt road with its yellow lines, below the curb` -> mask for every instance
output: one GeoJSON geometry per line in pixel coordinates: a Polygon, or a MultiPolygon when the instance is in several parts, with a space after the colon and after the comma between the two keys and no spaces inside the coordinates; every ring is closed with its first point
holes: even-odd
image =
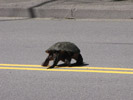
{"type": "Polygon", "coordinates": [[[132,52],[132,20],[0,19],[0,100],[132,100],[132,52]],[[58,41],[86,66],[40,66],[58,41]]]}

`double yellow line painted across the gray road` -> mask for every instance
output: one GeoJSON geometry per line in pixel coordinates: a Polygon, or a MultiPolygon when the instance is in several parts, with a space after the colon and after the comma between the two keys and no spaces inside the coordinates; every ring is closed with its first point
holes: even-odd
{"type": "Polygon", "coordinates": [[[0,69],[133,74],[133,68],[109,68],[109,67],[86,67],[86,66],[46,69],[46,67],[42,67],[41,65],[0,64],[0,69]]]}

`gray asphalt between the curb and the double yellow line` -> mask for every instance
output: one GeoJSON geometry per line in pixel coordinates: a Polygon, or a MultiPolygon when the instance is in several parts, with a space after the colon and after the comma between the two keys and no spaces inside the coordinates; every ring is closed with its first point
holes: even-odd
{"type": "Polygon", "coordinates": [[[0,63],[40,65],[47,48],[69,41],[89,66],[132,68],[132,26],[133,21],[1,20],[0,63]]]}

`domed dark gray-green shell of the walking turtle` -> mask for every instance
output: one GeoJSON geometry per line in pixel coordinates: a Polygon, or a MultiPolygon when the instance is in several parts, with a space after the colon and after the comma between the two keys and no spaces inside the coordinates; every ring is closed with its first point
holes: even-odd
{"type": "Polygon", "coordinates": [[[52,51],[67,51],[73,53],[80,53],[80,49],[71,42],[57,42],[46,50],[47,53],[52,51]]]}

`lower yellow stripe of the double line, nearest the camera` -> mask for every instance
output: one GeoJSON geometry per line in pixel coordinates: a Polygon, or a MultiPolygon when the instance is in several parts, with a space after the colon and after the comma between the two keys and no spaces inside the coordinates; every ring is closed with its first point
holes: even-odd
{"type": "Polygon", "coordinates": [[[0,69],[133,74],[133,72],[125,72],[125,71],[102,71],[102,70],[42,69],[42,68],[22,68],[22,67],[21,68],[19,68],[19,67],[0,67],[0,69]]]}

